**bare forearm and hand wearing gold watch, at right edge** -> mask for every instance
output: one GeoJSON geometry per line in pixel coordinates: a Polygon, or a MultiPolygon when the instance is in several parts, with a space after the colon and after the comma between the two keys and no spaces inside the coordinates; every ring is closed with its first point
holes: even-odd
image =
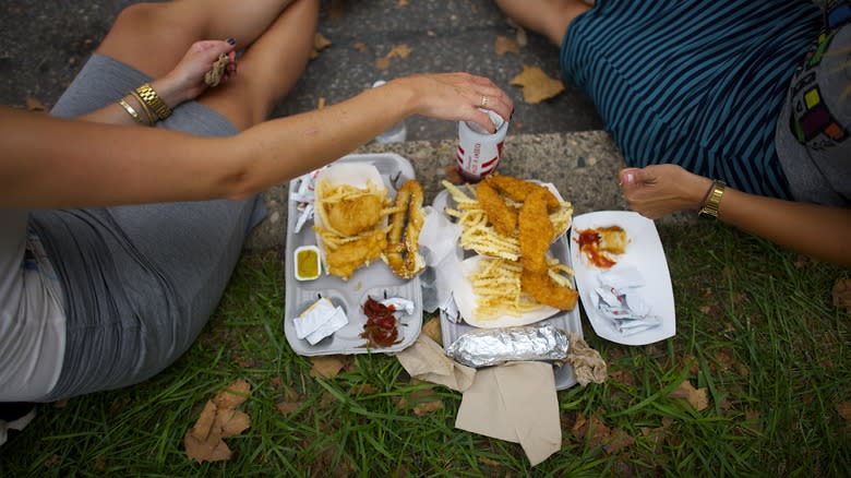
{"type": "MultiPolygon", "coordinates": [[[[649,218],[697,210],[708,178],[675,165],[624,169],[621,183],[630,207],[649,218]]],[[[784,248],[851,266],[851,210],[783,201],[727,188],[718,218],[784,248]]]]}

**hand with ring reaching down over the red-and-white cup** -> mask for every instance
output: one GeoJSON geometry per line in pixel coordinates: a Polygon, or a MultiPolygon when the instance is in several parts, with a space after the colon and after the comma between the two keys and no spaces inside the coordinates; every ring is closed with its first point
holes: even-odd
{"type": "MultiPolygon", "coordinates": [[[[510,120],[514,101],[492,81],[469,73],[436,73],[406,76],[394,82],[411,88],[412,110],[431,118],[472,121],[495,132],[488,109],[510,120]]],[[[391,82],[393,83],[393,82],[391,82]]]]}

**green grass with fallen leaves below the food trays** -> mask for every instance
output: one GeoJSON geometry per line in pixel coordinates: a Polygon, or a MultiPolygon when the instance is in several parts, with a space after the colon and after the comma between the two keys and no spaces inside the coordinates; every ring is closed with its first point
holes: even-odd
{"type": "Polygon", "coordinates": [[[279,254],[265,252],[241,260],[177,363],[137,386],[40,406],[0,447],[0,476],[847,476],[851,426],[837,404],[851,402],[851,318],[830,290],[849,271],[720,225],[660,234],[676,336],[620,346],[584,319],[610,379],[559,393],[563,446],[535,468],[517,444],[456,430],[460,394],[411,382],[395,358],[357,356],[335,379],[310,377],[280,327],[279,254]],[[236,379],[252,385],[251,428],[226,440],[229,462],[190,462],[183,434],[236,379]],[[708,408],[669,397],[683,380],[707,389],[708,408]],[[399,406],[435,396],[434,413],[399,406]],[[286,416],[275,407],[285,397],[300,402],[286,416]],[[576,435],[577,420],[626,445],[600,426],[576,435]]]}

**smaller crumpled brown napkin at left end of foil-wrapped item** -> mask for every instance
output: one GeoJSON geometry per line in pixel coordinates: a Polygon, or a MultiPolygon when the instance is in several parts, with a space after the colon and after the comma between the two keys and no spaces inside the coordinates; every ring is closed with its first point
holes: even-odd
{"type": "Polygon", "coordinates": [[[472,385],[476,369],[451,359],[431,337],[420,335],[410,347],[396,354],[411,377],[464,392],[472,385]]]}

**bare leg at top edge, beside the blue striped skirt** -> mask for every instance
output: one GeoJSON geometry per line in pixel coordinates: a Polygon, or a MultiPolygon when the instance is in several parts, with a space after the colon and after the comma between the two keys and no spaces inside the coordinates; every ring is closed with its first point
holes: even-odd
{"type": "Polygon", "coordinates": [[[573,19],[590,9],[580,0],[496,0],[506,16],[561,47],[573,19]]]}

